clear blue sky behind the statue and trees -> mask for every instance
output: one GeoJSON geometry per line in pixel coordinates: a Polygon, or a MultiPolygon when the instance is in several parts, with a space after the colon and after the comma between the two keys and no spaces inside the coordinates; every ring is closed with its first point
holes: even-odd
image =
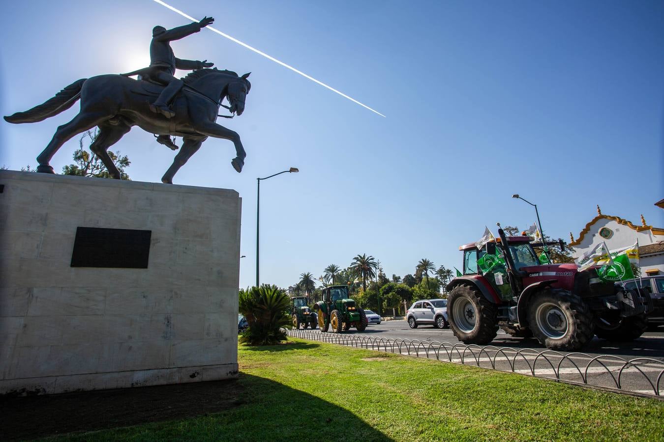
{"type": "MultiPolygon", "coordinates": [[[[209,139],[176,184],[243,198],[240,286],[253,284],[256,178],[261,281],[280,286],[367,253],[385,272],[421,258],[457,266],[484,226],[569,239],[596,215],[664,227],[664,3],[660,1],[171,0],[189,15],[384,113],[382,118],[213,32],[176,56],[252,72],[245,113],[218,121],[248,153],[209,139]]],[[[186,19],[151,0],[13,3],[0,17],[0,111],[42,103],[78,78],[149,62],[154,25],[186,19]]],[[[181,72],[180,74],[184,74],[181,72]]],[[[32,125],[0,123],[0,164],[36,165],[78,107],[32,125]]],[[[70,164],[76,138],[52,161],[70,164]]],[[[112,150],[133,180],[159,182],[173,152],[134,128],[112,150]]],[[[495,229],[494,229],[495,231],[495,229]]]]}

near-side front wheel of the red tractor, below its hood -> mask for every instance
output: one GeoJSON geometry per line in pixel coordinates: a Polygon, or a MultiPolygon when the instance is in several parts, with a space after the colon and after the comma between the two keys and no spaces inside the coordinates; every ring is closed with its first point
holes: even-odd
{"type": "Polygon", "coordinates": [[[576,351],[595,334],[588,305],[561,288],[545,288],[533,295],[528,327],[540,344],[552,350],[576,351]]]}

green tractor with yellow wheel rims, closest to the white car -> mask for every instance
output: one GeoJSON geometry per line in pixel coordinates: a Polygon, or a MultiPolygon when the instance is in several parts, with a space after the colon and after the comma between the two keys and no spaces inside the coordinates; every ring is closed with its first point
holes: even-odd
{"type": "Polygon", "coordinates": [[[358,331],[367,328],[367,315],[362,307],[358,307],[355,301],[348,296],[347,286],[330,286],[321,290],[323,300],[313,304],[313,309],[318,313],[318,326],[321,331],[328,331],[332,327],[332,333],[341,333],[355,327],[358,331]]]}

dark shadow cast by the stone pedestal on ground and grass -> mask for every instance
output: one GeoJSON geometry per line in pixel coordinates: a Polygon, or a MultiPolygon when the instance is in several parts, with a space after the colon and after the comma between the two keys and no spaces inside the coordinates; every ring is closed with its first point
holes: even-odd
{"type": "Polygon", "coordinates": [[[392,440],[335,404],[243,373],[238,380],[5,398],[0,410],[2,440],[293,441],[311,440],[312,431],[349,441],[392,440]],[[108,431],[72,434],[92,430],[108,431]]]}

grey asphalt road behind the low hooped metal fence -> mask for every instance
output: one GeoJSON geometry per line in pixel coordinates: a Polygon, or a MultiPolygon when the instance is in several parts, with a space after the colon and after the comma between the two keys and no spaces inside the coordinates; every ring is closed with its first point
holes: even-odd
{"type": "Polygon", "coordinates": [[[648,396],[658,391],[664,398],[664,327],[644,333],[639,339],[616,343],[595,337],[582,352],[547,351],[536,339],[514,338],[502,330],[487,346],[465,346],[450,329],[420,325],[410,329],[404,320],[382,321],[369,325],[363,332],[354,328],[340,334],[297,331],[295,336],[354,345],[513,371],[520,374],[560,379],[626,390],[648,396]],[[353,340],[353,336],[373,339],[353,340]],[[387,343],[390,339],[391,343],[387,343]],[[406,343],[396,339],[408,340],[406,343]],[[643,358],[643,359],[642,359],[643,358]],[[630,362],[631,361],[631,362],[630,362]],[[657,380],[659,378],[659,387],[657,380]]]}

